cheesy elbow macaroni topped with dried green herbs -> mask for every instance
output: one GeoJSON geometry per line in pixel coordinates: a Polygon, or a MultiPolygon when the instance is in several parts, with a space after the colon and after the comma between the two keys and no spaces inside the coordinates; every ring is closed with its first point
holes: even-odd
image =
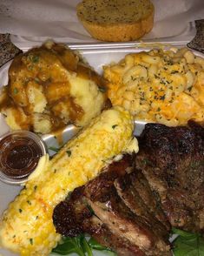
{"type": "Polygon", "coordinates": [[[104,66],[113,105],[168,126],[204,120],[204,58],[188,48],[141,51],[104,66]]]}

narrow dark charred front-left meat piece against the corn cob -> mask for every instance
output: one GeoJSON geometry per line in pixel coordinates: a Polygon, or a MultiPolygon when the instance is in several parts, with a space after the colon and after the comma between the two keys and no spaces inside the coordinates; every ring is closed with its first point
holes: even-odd
{"type": "Polygon", "coordinates": [[[83,195],[84,186],[76,188],[68,200],[56,206],[53,221],[56,232],[64,236],[75,237],[82,232],[89,233],[103,246],[110,247],[120,256],[144,256],[138,246],[127,239],[121,239],[109,227],[102,223],[89,208],[83,195]]]}

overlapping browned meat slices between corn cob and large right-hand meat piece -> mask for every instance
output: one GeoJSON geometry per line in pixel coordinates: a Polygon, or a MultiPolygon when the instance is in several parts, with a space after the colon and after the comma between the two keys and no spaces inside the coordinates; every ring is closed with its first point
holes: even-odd
{"type": "Polygon", "coordinates": [[[69,236],[88,232],[118,255],[169,255],[168,229],[148,211],[148,205],[133,185],[132,191],[137,196],[133,205],[130,201],[128,204],[130,194],[123,199],[127,190],[122,180],[130,179],[135,172],[133,163],[134,156],[125,155],[109,165],[106,172],[77,188],[66,203],[57,205],[53,215],[56,231],[69,236]],[[87,212],[87,205],[95,212],[94,216],[87,212]]]}

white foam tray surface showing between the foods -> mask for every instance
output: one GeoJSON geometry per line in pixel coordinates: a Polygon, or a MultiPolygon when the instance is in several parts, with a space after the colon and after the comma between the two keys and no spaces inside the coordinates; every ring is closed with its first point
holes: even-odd
{"type": "MultiPolygon", "coordinates": [[[[188,42],[186,42],[188,43],[188,42]]],[[[158,43],[151,43],[151,44],[76,44],[76,45],[70,45],[70,48],[73,50],[80,51],[83,57],[89,62],[89,64],[95,68],[95,71],[98,73],[102,73],[102,66],[104,64],[109,64],[110,62],[118,62],[122,59],[126,54],[130,52],[139,52],[139,51],[150,51],[153,48],[158,47],[184,47],[186,46],[185,42],[181,43],[175,43],[172,42],[171,44],[163,44],[162,42],[160,44],[158,43]]],[[[28,47],[23,47],[23,51],[27,51],[28,47]]],[[[200,55],[199,52],[194,52],[196,55],[200,55]]],[[[10,67],[10,62],[7,64],[4,64],[0,68],[0,87],[8,83],[8,70],[10,67]]],[[[143,130],[145,125],[145,122],[143,121],[137,121],[135,120],[135,135],[140,135],[141,131],[143,130]]],[[[68,125],[64,131],[63,131],[63,142],[69,140],[69,138],[72,138],[76,132],[79,129],[76,128],[74,125],[68,125]]],[[[0,114],[0,138],[1,136],[10,131],[8,125],[5,124],[5,121],[3,119],[3,116],[0,114]]],[[[50,146],[57,147],[57,140],[54,135],[47,134],[43,135],[43,140],[45,143],[50,146]]],[[[52,153],[52,152],[50,152],[52,153]]],[[[12,201],[16,195],[21,190],[20,186],[17,185],[7,185],[0,181],[0,215],[3,213],[3,211],[7,208],[10,201],[12,201]]],[[[3,249],[0,249],[0,255],[3,256],[13,256],[16,255],[14,253],[10,253],[8,251],[5,251],[3,249]]],[[[96,256],[102,255],[100,252],[95,253],[96,256]]]]}

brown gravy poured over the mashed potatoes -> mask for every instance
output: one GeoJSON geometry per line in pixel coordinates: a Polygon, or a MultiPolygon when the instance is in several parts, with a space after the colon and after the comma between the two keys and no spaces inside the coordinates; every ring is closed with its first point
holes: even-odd
{"type": "Polygon", "coordinates": [[[84,111],[76,104],[75,98],[70,97],[69,80],[58,68],[61,65],[70,72],[76,72],[78,77],[95,81],[99,90],[104,92],[104,98],[107,98],[104,79],[83,64],[74,51],[62,44],[52,44],[50,48],[43,45],[15,57],[10,65],[9,84],[4,88],[0,111],[10,108],[21,129],[35,131],[35,111],[30,104],[29,93],[30,88],[43,88],[47,104],[41,114],[42,119],[47,117],[50,120],[49,132],[59,131],[70,123],[82,120],[84,111]]]}

